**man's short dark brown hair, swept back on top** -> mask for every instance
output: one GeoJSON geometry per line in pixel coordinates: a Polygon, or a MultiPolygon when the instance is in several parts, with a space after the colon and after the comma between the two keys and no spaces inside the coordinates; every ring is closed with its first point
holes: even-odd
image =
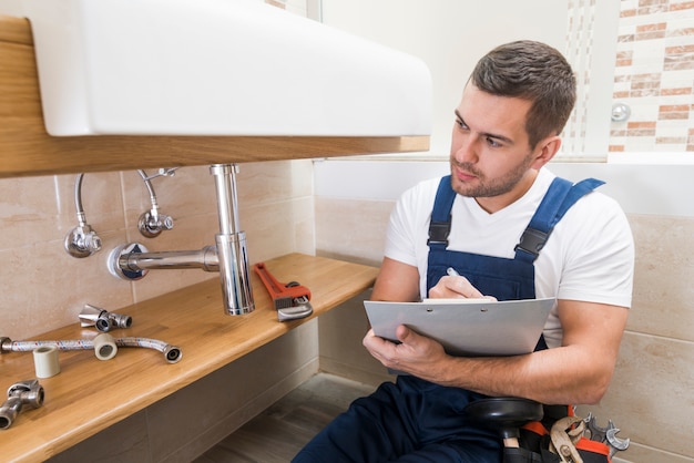
{"type": "Polygon", "coordinates": [[[474,66],[470,81],[483,92],[532,102],[525,120],[531,147],[559,135],[575,103],[575,78],[552,47],[521,40],[497,47],[474,66]]]}

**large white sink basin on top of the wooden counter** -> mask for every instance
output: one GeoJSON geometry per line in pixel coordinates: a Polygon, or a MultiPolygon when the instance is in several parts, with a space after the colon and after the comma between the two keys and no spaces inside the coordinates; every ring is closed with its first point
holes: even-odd
{"type": "Polygon", "coordinates": [[[51,135],[427,135],[419,59],[255,0],[0,0],[51,135]]]}

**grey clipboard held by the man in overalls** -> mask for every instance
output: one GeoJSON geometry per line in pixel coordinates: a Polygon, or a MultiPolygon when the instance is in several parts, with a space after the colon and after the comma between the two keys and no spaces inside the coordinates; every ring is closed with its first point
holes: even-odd
{"type": "Polygon", "coordinates": [[[384,339],[396,341],[396,328],[406,325],[439,341],[451,356],[501,357],[534,350],[555,301],[555,298],[365,300],[364,308],[374,332],[384,339]]]}

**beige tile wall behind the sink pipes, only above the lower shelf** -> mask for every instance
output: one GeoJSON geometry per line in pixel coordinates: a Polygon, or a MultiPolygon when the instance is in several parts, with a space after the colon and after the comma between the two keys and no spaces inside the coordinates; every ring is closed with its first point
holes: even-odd
{"type": "MultiPolygon", "coordinates": [[[[155,171],[147,172],[153,174],[155,171]]],[[[239,222],[252,261],[290,251],[313,254],[313,184],[308,161],[241,165],[237,175],[239,222]]],[[[115,246],[139,241],[150,250],[200,249],[218,233],[214,179],[207,166],[185,167],[152,181],[160,212],[174,228],[156,238],[136,229],[150,208],[136,172],[88,174],[82,183],[86,222],[102,238],[100,253],[83,259],[63,249],[76,225],[74,176],[0,179],[1,336],[34,337],[73,323],[89,302],[115,310],[217,274],[154,270],[140,281],[123,281],[108,270],[115,246]]]]}

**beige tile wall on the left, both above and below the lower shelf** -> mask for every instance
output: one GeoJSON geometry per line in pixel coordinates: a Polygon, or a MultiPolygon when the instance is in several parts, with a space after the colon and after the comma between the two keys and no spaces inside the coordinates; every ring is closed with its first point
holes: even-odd
{"type": "MultiPolygon", "coordinates": [[[[135,282],[110,275],[110,250],[131,240],[153,251],[214,244],[216,193],[207,166],[181,168],[174,177],[153,179],[153,185],[160,212],[173,216],[175,225],[149,239],[136,230],[140,214],[150,208],[140,175],[134,171],[85,175],[82,203],[103,249],[75,259],[63,250],[65,235],[76,225],[74,176],[0,179],[0,261],[4,264],[0,336],[40,337],[79,322],[85,302],[115,310],[218,278],[197,269],[153,270],[135,282]]],[[[314,254],[310,161],[242,164],[237,186],[239,223],[247,234],[252,263],[293,251],[314,254]]],[[[308,379],[317,371],[317,323],[309,322],[96,434],[57,461],[190,461],[308,379]]]]}

